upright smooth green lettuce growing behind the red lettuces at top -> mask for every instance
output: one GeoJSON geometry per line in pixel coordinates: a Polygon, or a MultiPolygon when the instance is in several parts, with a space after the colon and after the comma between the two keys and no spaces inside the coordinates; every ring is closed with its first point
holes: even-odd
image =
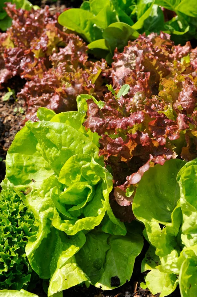
{"type": "Polygon", "coordinates": [[[89,0],[64,11],[58,21],[85,39],[90,52],[111,62],[115,48],[123,51],[139,33],[164,31],[176,44],[196,39],[196,16],[192,0],[89,0]]]}

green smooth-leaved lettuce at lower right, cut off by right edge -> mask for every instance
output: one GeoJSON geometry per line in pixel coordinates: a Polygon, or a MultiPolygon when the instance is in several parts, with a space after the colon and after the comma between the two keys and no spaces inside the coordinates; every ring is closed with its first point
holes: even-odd
{"type": "Polygon", "coordinates": [[[178,283],[182,297],[197,293],[196,176],[197,159],[156,165],[143,175],[133,201],[133,212],[145,224],[151,243],[142,271],[151,270],[145,276],[147,287],[161,297],[178,283]]]}

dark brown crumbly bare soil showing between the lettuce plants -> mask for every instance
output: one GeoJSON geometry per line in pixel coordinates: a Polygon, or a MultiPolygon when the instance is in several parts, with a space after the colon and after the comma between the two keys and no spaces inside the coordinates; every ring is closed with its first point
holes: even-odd
{"type": "MultiPolygon", "coordinates": [[[[31,0],[32,4],[44,7],[50,6],[51,13],[62,12],[65,8],[79,7],[82,0],[31,0]]],[[[14,77],[9,81],[9,87],[15,90],[17,94],[25,84],[25,80],[20,77],[14,77]]],[[[7,92],[7,86],[0,92],[0,182],[5,176],[5,158],[7,150],[12,143],[16,133],[22,128],[21,121],[25,118],[26,106],[24,100],[11,96],[9,100],[3,101],[3,96],[7,92]]],[[[123,286],[112,291],[103,291],[91,286],[75,286],[64,291],[64,297],[159,297],[160,294],[152,295],[147,289],[142,289],[140,283],[144,282],[145,273],[141,273],[141,262],[148,249],[148,242],[145,244],[141,254],[136,258],[131,280],[123,286]]],[[[117,280],[114,280],[117,281],[117,280]]],[[[39,297],[47,297],[42,284],[39,282],[32,293],[39,297]]],[[[180,297],[179,288],[169,295],[169,297],[180,297]]]]}

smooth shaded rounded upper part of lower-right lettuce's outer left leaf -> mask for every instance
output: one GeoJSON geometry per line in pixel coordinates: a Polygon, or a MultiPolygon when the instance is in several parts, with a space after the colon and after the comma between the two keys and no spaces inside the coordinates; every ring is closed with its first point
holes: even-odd
{"type": "Polygon", "coordinates": [[[161,224],[171,222],[172,211],[180,198],[176,175],[184,164],[178,159],[169,160],[144,173],[133,201],[133,211],[138,219],[151,222],[154,218],[161,224]],[[152,201],[154,205],[150,209],[152,201]]]}

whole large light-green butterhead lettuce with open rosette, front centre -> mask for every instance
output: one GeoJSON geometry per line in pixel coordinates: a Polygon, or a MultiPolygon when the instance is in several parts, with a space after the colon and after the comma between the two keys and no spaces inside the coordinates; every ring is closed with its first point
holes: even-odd
{"type": "Polygon", "coordinates": [[[126,235],[112,212],[112,176],[98,155],[98,135],[82,126],[84,100],[79,112],[40,108],[42,120],[26,123],[6,157],[2,187],[14,186],[39,226],[26,255],[39,277],[50,279],[48,296],[82,282],[121,286],[143,247],[142,235],[126,235]]]}

